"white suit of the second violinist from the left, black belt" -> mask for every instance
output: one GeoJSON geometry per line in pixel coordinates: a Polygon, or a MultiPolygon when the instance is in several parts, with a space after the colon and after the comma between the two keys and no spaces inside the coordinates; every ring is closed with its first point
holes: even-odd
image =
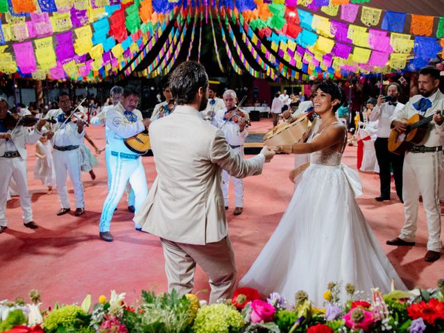
{"type": "Polygon", "coordinates": [[[55,117],[57,120],[57,123],[51,126],[55,132],[51,139],[51,144],[53,145],[56,186],[60,206],[62,208],[70,208],[67,191],[68,173],[74,187],[76,208],[85,208],[83,183],[80,174],[80,152],[78,151],[78,147],[83,143],[85,130],[78,133],[77,124],[73,123],[71,119],[64,124],[65,113],[62,109],[58,109],[58,112],[53,112],[50,117],[55,117]]]}

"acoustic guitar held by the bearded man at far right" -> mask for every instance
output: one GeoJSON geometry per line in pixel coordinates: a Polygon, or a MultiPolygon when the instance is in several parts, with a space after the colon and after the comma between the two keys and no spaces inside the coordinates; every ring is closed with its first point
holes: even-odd
{"type": "MultiPolygon", "coordinates": [[[[441,114],[441,111],[437,112],[441,114]]],[[[413,114],[406,122],[409,123],[405,132],[398,132],[398,130],[391,130],[390,137],[388,137],[388,151],[395,154],[402,154],[411,146],[421,144],[427,133],[427,123],[432,121],[434,114],[429,117],[422,117],[420,114],[413,114]]]]}

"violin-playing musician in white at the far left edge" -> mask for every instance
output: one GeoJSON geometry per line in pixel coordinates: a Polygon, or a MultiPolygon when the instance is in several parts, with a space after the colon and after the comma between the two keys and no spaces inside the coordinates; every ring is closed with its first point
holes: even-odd
{"type": "Polygon", "coordinates": [[[19,191],[24,226],[31,229],[38,227],[33,221],[31,196],[28,191],[26,144],[35,144],[40,139],[43,134],[42,127],[46,123],[46,120],[42,119],[33,130],[28,131],[19,122],[20,119],[16,119],[8,110],[8,101],[0,97],[0,234],[8,224],[5,215],[6,196],[12,176],[19,191]]]}

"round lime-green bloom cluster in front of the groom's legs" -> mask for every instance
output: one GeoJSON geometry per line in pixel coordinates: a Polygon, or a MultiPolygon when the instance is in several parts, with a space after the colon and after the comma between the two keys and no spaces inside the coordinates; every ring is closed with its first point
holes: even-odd
{"type": "Polygon", "coordinates": [[[212,304],[201,307],[194,319],[196,333],[235,333],[244,327],[244,318],[232,306],[212,304]]]}

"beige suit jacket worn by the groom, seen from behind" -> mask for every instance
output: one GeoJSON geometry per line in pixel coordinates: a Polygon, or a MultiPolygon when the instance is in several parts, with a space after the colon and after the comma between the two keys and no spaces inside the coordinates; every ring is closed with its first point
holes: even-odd
{"type": "Polygon", "coordinates": [[[149,131],[157,178],[135,222],[170,241],[196,245],[220,241],[228,234],[222,169],[236,178],[258,175],[264,155],[243,160],[221,130],[185,105],[151,123],[149,131]]]}

